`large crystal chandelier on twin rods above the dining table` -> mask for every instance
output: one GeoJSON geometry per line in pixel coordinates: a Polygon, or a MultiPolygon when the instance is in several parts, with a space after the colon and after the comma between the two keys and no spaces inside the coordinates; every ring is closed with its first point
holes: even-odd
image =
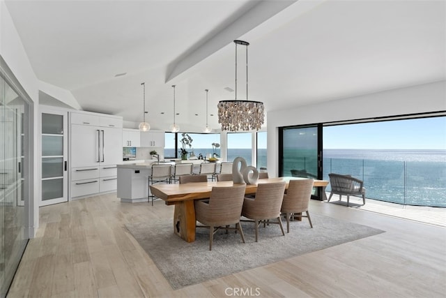
{"type": "Polygon", "coordinates": [[[246,41],[234,40],[236,44],[236,99],[220,100],[218,123],[222,131],[259,131],[265,117],[263,103],[248,100],[248,45],[246,41]],[[246,100],[237,100],[237,45],[246,46],[246,100]]]}

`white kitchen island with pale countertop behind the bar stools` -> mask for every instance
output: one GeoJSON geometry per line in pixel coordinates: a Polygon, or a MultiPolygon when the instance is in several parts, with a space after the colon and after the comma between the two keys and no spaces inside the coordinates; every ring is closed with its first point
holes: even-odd
{"type": "MultiPolygon", "coordinates": [[[[176,161],[177,163],[193,163],[194,173],[198,174],[202,160],[176,161]]],[[[152,164],[156,160],[145,161],[144,163],[125,163],[118,166],[118,189],[117,196],[121,202],[136,203],[148,202],[148,177],[152,173],[152,164]]],[[[175,161],[162,161],[160,164],[170,164],[175,166],[175,161]]],[[[172,168],[172,173],[174,169],[172,168]]]]}

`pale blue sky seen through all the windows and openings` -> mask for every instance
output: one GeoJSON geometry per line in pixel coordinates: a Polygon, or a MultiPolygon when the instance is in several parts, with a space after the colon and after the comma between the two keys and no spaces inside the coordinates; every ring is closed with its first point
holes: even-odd
{"type": "MultiPolygon", "coordinates": [[[[311,131],[305,135],[306,138],[312,137],[309,132],[311,131]]],[[[190,135],[193,135],[194,148],[212,148],[213,142],[220,142],[220,135],[217,133],[190,135]]],[[[302,135],[296,137],[301,141],[306,140],[302,135]]],[[[228,133],[228,142],[232,148],[251,148],[251,133],[228,133]]],[[[257,142],[259,148],[266,148],[266,132],[258,134],[257,142]]],[[[174,142],[171,144],[173,147],[174,142]]],[[[171,148],[169,145],[170,142],[166,137],[166,147],[171,148]]],[[[324,126],[323,147],[324,149],[446,150],[446,117],[324,126]]]]}

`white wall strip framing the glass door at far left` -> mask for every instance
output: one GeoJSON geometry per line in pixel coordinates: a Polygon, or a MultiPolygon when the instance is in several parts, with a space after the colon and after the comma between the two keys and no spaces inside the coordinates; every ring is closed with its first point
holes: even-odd
{"type": "Polygon", "coordinates": [[[5,2],[0,1],[0,54],[1,57],[6,61],[10,70],[17,78],[17,80],[22,85],[26,94],[31,98],[31,179],[30,188],[31,196],[29,203],[29,237],[34,237],[38,228],[38,196],[36,194],[40,193],[40,186],[36,181],[38,177],[38,156],[36,148],[40,144],[38,140],[38,125],[36,121],[38,120],[38,80],[36,74],[33,72],[29,59],[26,56],[26,52],[20,40],[20,36],[15,29],[13,20],[10,17],[8,9],[6,8],[5,2]]]}

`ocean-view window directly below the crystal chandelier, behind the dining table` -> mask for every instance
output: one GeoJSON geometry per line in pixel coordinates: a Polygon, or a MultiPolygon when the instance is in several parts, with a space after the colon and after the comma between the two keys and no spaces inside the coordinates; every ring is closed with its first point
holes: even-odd
{"type": "Polygon", "coordinates": [[[252,165],[252,133],[228,133],[227,161],[233,161],[240,156],[245,158],[247,165],[252,165]]]}

